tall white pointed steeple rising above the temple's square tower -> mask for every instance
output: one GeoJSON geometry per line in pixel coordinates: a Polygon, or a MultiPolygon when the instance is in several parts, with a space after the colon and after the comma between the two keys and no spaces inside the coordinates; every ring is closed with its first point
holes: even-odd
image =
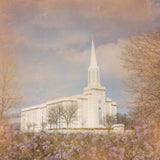
{"type": "Polygon", "coordinates": [[[94,41],[92,38],[91,60],[90,60],[90,66],[88,68],[88,87],[95,88],[100,86],[101,85],[100,85],[99,67],[97,66],[94,41]]]}

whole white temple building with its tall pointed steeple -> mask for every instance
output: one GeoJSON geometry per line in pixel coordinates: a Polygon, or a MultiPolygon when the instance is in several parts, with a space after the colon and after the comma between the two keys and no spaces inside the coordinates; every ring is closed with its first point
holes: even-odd
{"type": "MultiPolygon", "coordinates": [[[[70,125],[72,128],[104,128],[103,117],[108,114],[117,116],[117,105],[106,97],[105,87],[100,83],[100,70],[96,61],[94,42],[92,40],[90,66],[88,68],[88,86],[83,94],[63,97],[44,104],[27,107],[21,110],[21,130],[39,131],[42,123],[48,123],[48,111],[57,105],[69,106],[77,104],[77,119],[70,125]]],[[[54,126],[53,126],[54,127],[54,126]]],[[[59,125],[66,128],[66,124],[59,125]]],[[[46,125],[45,130],[49,129],[46,125]]]]}

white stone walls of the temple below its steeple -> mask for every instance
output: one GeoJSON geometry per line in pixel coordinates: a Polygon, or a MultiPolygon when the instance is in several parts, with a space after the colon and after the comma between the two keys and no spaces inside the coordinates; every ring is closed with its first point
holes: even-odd
{"type": "MultiPolygon", "coordinates": [[[[42,128],[42,122],[47,123],[47,112],[50,107],[57,105],[63,105],[67,107],[72,101],[60,102],[56,104],[47,104],[41,107],[37,106],[28,108],[21,113],[21,129],[24,131],[28,130],[27,124],[32,124],[30,131],[39,131],[42,128]]],[[[104,91],[93,90],[91,94],[86,95],[86,99],[77,99],[78,112],[77,121],[71,124],[72,128],[103,128],[102,124],[99,124],[99,113],[98,109],[102,109],[102,118],[108,113],[109,115],[117,114],[116,104],[111,100],[106,101],[104,91]],[[83,123],[83,124],[82,124],[83,123]]],[[[66,124],[63,123],[61,128],[66,128],[66,124]]],[[[49,129],[49,125],[46,126],[49,129]]]]}

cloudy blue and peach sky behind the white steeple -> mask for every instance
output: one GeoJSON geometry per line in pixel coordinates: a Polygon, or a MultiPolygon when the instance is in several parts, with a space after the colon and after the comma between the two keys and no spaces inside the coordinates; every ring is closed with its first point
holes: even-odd
{"type": "Polygon", "coordinates": [[[126,113],[121,52],[160,29],[160,0],[1,0],[0,52],[19,66],[20,108],[82,94],[94,35],[101,84],[126,113]]]}

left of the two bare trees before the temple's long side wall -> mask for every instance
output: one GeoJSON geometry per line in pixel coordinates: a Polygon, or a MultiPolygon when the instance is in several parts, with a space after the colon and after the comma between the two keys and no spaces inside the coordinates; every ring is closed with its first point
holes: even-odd
{"type": "Polygon", "coordinates": [[[58,106],[54,106],[54,107],[51,107],[49,108],[48,110],[48,123],[50,124],[50,128],[51,128],[51,125],[55,125],[56,128],[58,126],[58,123],[59,123],[59,128],[60,128],[60,125],[61,125],[61,119],[64,115],[64,107],[61,106],[61,105],[58,105],[58,106]]]}

